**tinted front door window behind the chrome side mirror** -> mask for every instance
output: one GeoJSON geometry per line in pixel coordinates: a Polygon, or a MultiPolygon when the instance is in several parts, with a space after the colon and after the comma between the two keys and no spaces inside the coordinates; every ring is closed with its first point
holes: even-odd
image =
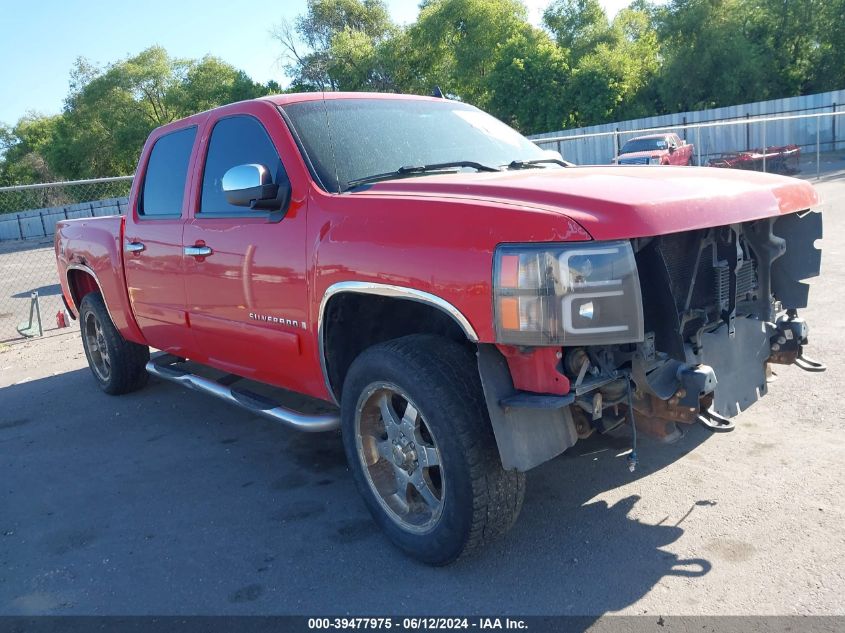
{"type": "Polygon", "coordinates": [[[232,167],[257,163],[264,165],[273,182],[287,182],[282,159],[273,146],[264,126],[251,116],[234,116],[221,119],[211,132],[208,156],[202,177],[200,213],[239,214],[250,209],[229,204],[223,193],[223,174],[232,167]]]}

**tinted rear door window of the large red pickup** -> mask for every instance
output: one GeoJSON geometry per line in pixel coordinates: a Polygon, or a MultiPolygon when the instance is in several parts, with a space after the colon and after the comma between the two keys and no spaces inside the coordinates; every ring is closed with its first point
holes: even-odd
{"type": "Polygon", "coordinates": [[[143,216],[182,215],[182,198],[196,127],[165,134],[153,145],[138,213],[143,216]]]}

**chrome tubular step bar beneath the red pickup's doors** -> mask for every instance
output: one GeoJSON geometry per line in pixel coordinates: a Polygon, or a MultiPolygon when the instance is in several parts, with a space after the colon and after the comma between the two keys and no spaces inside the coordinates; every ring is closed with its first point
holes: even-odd
{"type": "MultiPolygon", "coordinates": [[[[339,414],[299,413],[298,411],[283,407],[279,403],[257,393],[245,389],[233,389],[226,384],[221,384],[221,382],[203,378],[202,376],[192,374],[185,369],[175,366],[182,362],[184,362],[184,359],[171,354],[162,354],[147,363],[147,371],[153,376],[175,382],[188,389],[207,393],[268,420],[280,422],[284,426],[296,429],[297,431],[318,433],[322,431],[334,431],[340,428],[339,414]]],[[[226,380],[228,378],[228,376],[225,377],[222,382],[229,382],[231,384],[231,382],[236,382],[238,379],[233,377],[235,380],[226,380]]]]}

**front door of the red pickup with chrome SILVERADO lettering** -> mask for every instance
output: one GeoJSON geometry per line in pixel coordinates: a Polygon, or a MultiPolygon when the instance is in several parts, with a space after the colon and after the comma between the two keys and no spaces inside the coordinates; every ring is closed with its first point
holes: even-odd
{"type": "Polygon", "coordinates": [[[263,382],[297,385],[306,333],[305,203],[284,217],[229,204],[223,175],[259,164],[287,182],[280,151],[251,115],[210,129],[194,217],[185,225],[188,316],[196,358],[263,382]]]}

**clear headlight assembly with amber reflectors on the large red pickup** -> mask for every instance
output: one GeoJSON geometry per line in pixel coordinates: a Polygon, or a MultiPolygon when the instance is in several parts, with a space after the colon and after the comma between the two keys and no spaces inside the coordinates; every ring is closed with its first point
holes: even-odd
{"type": "Polygon", "coordinates": [[[643,340],[640,282],[628,241],[503,245],[496,249],[493,275],[499,343],[643,340]]]}

